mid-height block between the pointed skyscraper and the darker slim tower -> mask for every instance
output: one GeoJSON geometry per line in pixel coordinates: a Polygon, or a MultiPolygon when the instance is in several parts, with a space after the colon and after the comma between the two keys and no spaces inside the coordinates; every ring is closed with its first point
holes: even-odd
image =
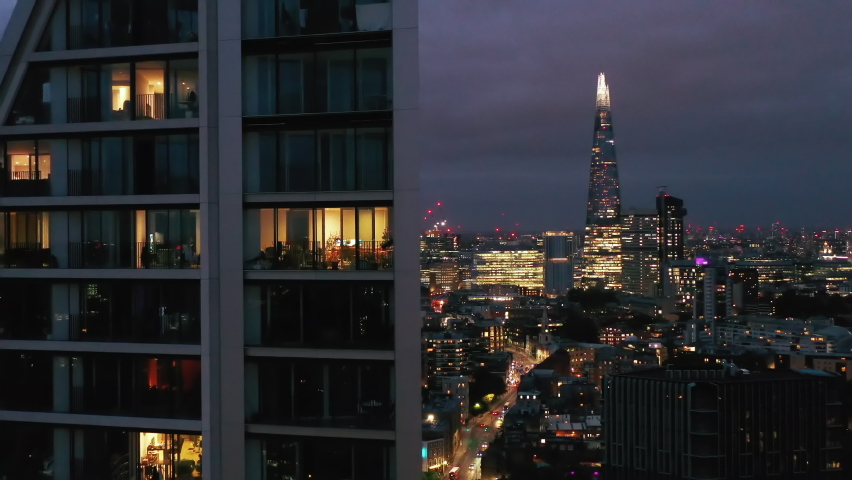
{"type": "Polygon", "coordinates": [[[654,210],[630,209],[621,216],[622,290],[654,296],[660,279],[657,227],[654,210]]]}

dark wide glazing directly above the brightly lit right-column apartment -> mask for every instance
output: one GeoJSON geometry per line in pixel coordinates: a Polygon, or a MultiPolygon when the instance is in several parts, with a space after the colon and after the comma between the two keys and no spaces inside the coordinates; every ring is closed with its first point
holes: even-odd
{"type": "Polygon", "coordinates": [[[390,190],[391,135],[388,128],[246,133],[245,192],[390,190]]]}

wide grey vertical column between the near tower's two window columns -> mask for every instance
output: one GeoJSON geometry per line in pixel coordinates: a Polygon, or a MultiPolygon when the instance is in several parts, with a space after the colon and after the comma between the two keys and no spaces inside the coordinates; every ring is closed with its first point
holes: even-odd
{"type": "Polygon", "coordinates": [[[246,474],[241,3],[199,2],[205,478],[246,474]],[[221,19],[221,21],[219,20],[221,19]],[[210,460],[208,460],[210,459],[210,460]]]}

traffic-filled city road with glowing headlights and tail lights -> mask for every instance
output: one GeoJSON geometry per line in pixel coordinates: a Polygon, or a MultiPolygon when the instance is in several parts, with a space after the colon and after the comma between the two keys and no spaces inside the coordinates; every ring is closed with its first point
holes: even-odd
{"type": "MultiPolygon", "coordinates": [[[[518,397],[518,377],[519,373],[523,373],[524,367],[533,368],[535,362],[520,351],[513,351],[514,361],[519,364],[509,376],[508,391],[500,400],[495,401],[489,411],[473,417],[467,422],[467,426],[462,429],[461,446],[456,451],[455,461],[450,467],[459,467],[458,480],[486,480],[482,478],[482,461],[476,456],[476,453],[486,448],[483,444],[490,444],[494,441],[497,435],[498,428],[497,420],[501,418],[503,405],[508,403],[510,406],[515,404],[518,397]],[[520,372],[518,372],[520,370],[520,372]],[[496,415],[494,414],[496,412],[496,415]],[[481,425],[485,425],[482,427],[481,425]],[[467,430],[470,429],[468,432],[467,430]],[[474,468],[470,468],[473,465],[474,468]]],[[[449,469],[448,469],[449,470],[449,469]]],[[[444,475],[444,479],[449,477],[449,473],[444,475]]],[[[490,479],[488,479],[490,480],[490,479]]]]}

